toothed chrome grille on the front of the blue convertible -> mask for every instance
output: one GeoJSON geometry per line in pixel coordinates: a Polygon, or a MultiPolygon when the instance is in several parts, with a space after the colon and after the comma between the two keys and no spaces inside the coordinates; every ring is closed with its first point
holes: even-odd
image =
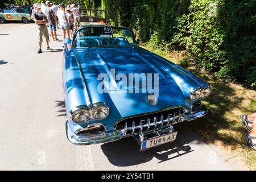
{"type": "Polygon", "coordinates": [[[183,108],[179,107],[128,118],[118,122],[115,126],[115,130],[124,130],[125,135],[149,133],[182,122],[181,114],[183,114],[183,108]]]}

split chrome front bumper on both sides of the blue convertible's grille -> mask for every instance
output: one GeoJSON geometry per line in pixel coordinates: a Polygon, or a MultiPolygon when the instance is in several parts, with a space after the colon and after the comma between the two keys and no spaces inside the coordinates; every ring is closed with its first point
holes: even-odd
{"type": "MultiPolygon", "coordinates": [[[[191,113],[183,113],[180,115],[180,119],[183,121],[192,121],[203,117],[208,113],[208,110],[205,106],[200,105],[197,106],[191,113]]],[[[125,130],[115,130],[109,132],[99,132],[98,134],[75,134],[72,133],[68,121],[66,122],[66,134],[67,138],[73,144],[78,145],[90,145],[90,144],[97,144],[97,143],[107,143],[107,142],[114,142],[115,140],[119,140],[125,137],[126,131],[125,130]]]]}

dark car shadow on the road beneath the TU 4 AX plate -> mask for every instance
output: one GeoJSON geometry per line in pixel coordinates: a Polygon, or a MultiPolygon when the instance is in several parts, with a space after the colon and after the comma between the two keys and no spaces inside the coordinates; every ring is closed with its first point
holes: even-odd
{"type": "Polygon", "coordinates": [[[179,158],[180,156],[193,152],[189,143],[203,143],[203,141],[197,137],[189,127],[184,126],[184,124],[176,126],[175,130],[178,131],[175,142],[163,144],[162,146],[151,148],[144,152],[139,151],[139,146],[133,137],[102,144],[101,149],[109,162],[114,166],[126,167],[149,162],[154,157],[159,160],[158,163],[179,158]]]}

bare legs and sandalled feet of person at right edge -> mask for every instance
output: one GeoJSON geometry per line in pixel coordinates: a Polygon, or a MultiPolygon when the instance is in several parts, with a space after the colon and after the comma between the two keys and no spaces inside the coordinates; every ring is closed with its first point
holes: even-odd
{"type": "Polygon", "coordinates": [[[248,145],[256,151],[256,113],[251,115],[241,115],[241,119],[249,133],[245,134],[245,139],[248,145]]]}

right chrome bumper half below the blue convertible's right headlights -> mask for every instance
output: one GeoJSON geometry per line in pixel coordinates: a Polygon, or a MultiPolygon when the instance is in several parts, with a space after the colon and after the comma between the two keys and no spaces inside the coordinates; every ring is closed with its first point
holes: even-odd
{"type": "Polygon", "coordinates": [[[208,113],[207,107],[205,107],[203,105],[199,105],[199,106],[195,107],[195,109],[193,109],[191,111],[191,113],[182,114],[181,119],[183,119],[185,121],[192,121],[192,120],[201,118],[204,115],[207,115],[207,113],[208,113]]]}

